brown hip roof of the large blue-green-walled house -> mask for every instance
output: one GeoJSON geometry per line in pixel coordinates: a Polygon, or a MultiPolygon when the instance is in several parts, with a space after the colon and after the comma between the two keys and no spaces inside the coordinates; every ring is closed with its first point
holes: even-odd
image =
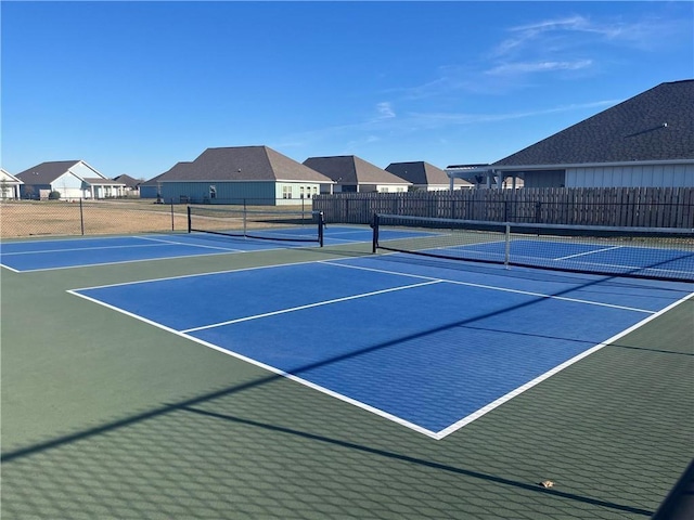
{"type": "MultiPolygon", "coordinates": [[[[267,146],[207,148],[192,162],[178,162],[158,176],[170,181],[313,181],[331,183],[325,176],[267,146]]],[[[147,184],[151,181],[147,181],[147,184]]]]}

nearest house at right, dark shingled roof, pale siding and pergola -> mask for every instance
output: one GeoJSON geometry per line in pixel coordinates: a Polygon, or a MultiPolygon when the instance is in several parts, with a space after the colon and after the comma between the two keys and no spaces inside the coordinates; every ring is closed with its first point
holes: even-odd
{"type": "Polygon", "coordinates": [[[694,80],[660,83],[492,165],[450,166],[489,187],[694,186],[694,80]]]}

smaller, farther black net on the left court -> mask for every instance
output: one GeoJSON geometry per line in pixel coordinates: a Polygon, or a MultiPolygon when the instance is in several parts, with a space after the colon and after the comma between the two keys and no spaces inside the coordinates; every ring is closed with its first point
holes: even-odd
{"type": "Polygon", "coordinates": [[[323,213],[306,210],[188,207],[188,232],[259,240],[317,243],[323,247],[323,213]]]}

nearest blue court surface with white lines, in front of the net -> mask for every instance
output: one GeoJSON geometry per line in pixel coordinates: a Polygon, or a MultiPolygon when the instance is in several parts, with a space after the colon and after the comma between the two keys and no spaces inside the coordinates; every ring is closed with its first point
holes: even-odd
{"type": "Polygon", "coordinates": [[[442,439],[692,290],[383,255],[69,292],[442,439]]]}

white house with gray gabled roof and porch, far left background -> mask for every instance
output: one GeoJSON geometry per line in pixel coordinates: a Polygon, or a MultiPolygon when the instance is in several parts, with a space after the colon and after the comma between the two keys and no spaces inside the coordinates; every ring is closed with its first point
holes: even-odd
{"type": "Polygon", "coordinates": [[[125,184],[103,176],[83,160],[41,162],[17,173],[22,198],[48,198],[59,192],[61,199],[111,198],[124,194],[125,184]]]}

